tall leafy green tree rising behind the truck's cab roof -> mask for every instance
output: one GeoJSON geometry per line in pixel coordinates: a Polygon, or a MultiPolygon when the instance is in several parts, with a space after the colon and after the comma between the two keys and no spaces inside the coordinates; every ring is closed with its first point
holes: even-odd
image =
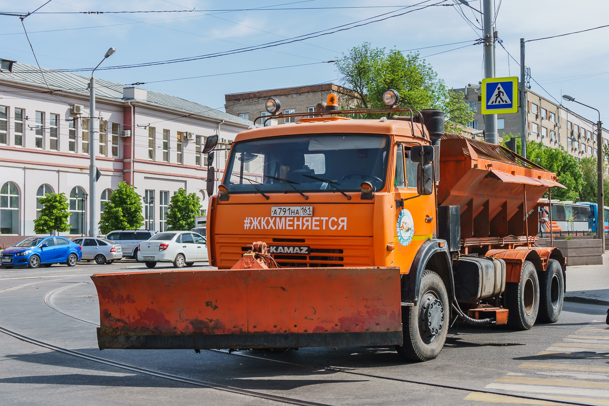
{"type": "Polygon", "coordinates": [[[394,89],[400,94],[400,105],[414,110],[438,108],[446,113],[448,130],[451,124],[467,125],[473,117],[463,101],[465,94],[446,88],[432,66],[418,52],[404,55],[392,49],[375,48],[370,43],[356,46],[337,58],[336,68],[342,85],[353,91],[359,108],[385,107],[382,94],[394,89]]]}

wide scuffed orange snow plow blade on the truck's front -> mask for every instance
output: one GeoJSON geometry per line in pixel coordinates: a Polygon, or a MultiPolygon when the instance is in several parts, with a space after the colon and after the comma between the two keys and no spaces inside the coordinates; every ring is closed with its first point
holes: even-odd
{"type": "Polygon", "coordinates": [[[271,268],[91,276],[99,349],[401,345],[399,268],[271,268]]]}

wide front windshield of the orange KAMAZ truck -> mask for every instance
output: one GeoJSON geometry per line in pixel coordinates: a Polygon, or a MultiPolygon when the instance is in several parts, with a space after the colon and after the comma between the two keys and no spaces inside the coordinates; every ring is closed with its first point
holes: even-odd
{"type": "Polygon", "coordinates": [[[382,189],[389,138],[332,134],[238,142],[224,184],[230,192],[359,191],[364,181],[382,189]],[[256,190],[256,189],[259,189],[256,190]]]}

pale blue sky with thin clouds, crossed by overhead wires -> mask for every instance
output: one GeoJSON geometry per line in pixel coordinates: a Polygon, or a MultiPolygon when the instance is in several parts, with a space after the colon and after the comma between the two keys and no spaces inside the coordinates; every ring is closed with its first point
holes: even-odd
{"type": "MultiPolygon", "coordinates": [[[[0,13],[33,12],[45,2],[0,0],[0,13]]],[[[109,47],[115,47],[116,53],[95,72],[97,78],[124,84],[144,82],[139,86],[224,110],[224,95],[228,93],[340,83],[334,63],[328,61],[342,57],[365,41],[375,47],[395,47],[405,52],[419,49],[421,57],[451,88],[478,83],[484,77],[483,46],[474,43],[482,37],[482,16],[470,7],[457,6],[456,2],[51,0],[24,18],[23,25],[43,68],[93,68],[109,47]],[[421,9],[426,5],[432,6],[421,9]],[[159,10],[194,11],[86,13],[159,10]],[[376,21],[383,18],[386,19],[376,21]],[[355,22],[370,24],[351,29],[348,28],[357,24],[345,25],[355,22]],[[337,30],[326,31],[333,27],[343,30],[264,49],[209,57],[337,30]],[[208,57],[102,70],[202,55],[208,57]],[[184,79],[192,77],[197,78],[184,79]]],[[[520,75],[520,38],[535,40],[609,24],[607,0],[494,0],[494,3],[496,30],[502,41],[502,46],[496,46],[496,77],[520,75]]],[[[469,4],[482,10],[480,0],[469,4]]],[[[0,15],[0,58],[36,65],[18,16],[0,15]]],[[[526,66],[537,81],[531,81],[535,93],[563,102],[591,121],[598,120],[596,111],[561,99],[562,94],[569,94],[600,110],[605,127],[609,124],[609,27],[530,41],[526,43],[526,66]]],[[[79,73],[88,75],[90,71],[79,73]]]]}

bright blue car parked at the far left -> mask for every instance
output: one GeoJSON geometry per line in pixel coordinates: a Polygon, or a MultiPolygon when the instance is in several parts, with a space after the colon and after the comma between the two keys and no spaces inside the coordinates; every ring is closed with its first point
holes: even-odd
{"type": "Polygon", "coordinates": [[[5,268],[38,268],[41,264],[66,264],[73,267],[82,258],[80,245],[63,237],[29,237],[2,251],[0,264],[5,268]]]}

